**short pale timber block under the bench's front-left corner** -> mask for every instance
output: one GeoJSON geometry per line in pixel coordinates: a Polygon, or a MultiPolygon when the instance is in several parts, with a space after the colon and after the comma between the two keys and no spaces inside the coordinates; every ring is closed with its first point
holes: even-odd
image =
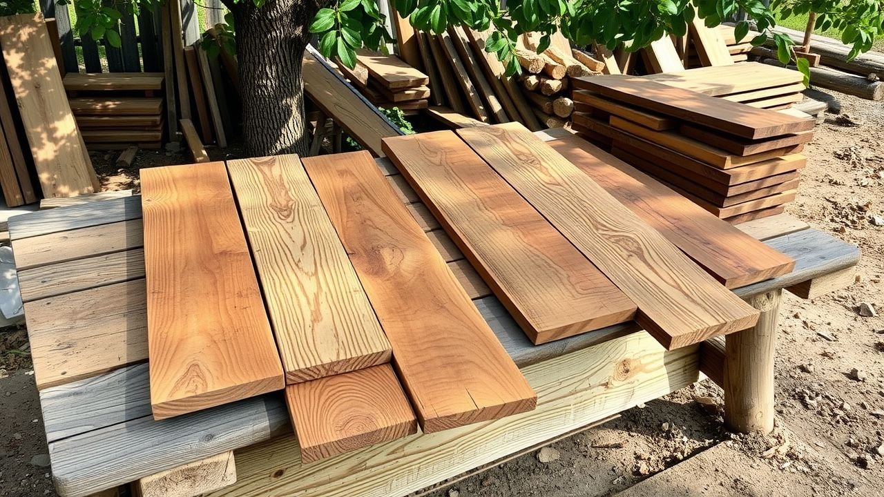
{"type": "Polygon", "coordinates": [[[236,482],[233,452],[212,455],[133,482],[137,497],[194,497],[220,490],[236,482]]]}

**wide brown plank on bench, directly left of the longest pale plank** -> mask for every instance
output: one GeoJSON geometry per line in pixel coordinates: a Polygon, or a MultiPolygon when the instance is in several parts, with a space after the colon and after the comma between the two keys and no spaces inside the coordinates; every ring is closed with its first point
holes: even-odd
{"type": "Polygon", "coordinates": [[[455,134],[384,147],[531,341],[635,317],[635,304],[455,134]]]}

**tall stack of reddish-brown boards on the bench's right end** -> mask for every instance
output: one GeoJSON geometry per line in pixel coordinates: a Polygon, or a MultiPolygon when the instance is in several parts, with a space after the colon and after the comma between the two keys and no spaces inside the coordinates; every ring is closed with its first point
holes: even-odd
{"type": "Polygon", "coordinates": [[[575,80],[573,128],[732,224],[795,200],[814,121],[631,76],[575,80]]]}

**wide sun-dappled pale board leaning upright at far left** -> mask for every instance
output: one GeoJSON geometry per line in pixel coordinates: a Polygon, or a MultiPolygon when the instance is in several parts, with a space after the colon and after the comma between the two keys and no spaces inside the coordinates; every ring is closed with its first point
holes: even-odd
{"type": "Polygon", "coordinates": [[[43,196],[99,190],[65,98],[42,14],[0,19],[0,43],[43,196]]]}

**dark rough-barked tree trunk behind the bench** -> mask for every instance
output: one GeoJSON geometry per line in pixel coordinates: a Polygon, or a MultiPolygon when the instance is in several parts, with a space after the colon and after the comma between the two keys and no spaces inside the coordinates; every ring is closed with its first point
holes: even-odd
{"type": "Polygon", "coordinates": [[[252,157],[307,155],[301,57],[309,23],[324,0],[267,0],[228,5],[236,27],[243,138],[252,157]]]}

